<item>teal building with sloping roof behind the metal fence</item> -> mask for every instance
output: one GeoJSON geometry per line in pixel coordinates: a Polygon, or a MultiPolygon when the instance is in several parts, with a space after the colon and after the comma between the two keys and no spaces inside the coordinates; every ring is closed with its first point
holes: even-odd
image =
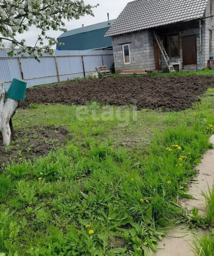
{"type": "Polygon", "coordinates": [[[108,20],[90,26],[72,29],[57,38],[64,45],[56,46],[57,50],[92,50],[112,49],[110,37],[104,37],[115,20],[108,20]]]}

